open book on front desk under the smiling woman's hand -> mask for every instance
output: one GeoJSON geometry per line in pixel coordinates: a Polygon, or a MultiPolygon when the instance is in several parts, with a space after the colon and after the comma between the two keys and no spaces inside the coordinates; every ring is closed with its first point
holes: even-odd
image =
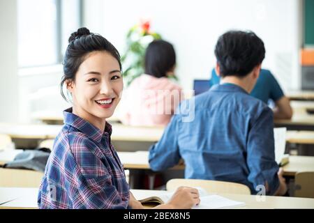
{"type": "MultiPolygon", "coordinates": [[[[200,193],[200,204],[192,209],[216,209],[216,208],[237,208],[245,206],[246,203],[241,201],[233,201],[217,194],[208,194],[203,188],[196,187],[200,193]]],[[[142,204],[163,204],[170,200],[174,192],[161,192],[158,196],[146,197],[138,199],[142,204]]],[[[135,194],[136,197],[136,194],[135,194]]]]}

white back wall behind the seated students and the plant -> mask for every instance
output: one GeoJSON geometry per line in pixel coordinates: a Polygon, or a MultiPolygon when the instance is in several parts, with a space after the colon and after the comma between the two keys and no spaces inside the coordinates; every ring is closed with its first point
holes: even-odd
{"type": "Polygon", "coordinates": [[[274,72],[285,90],[299,89],[300,2],[89,0],[85,3],[85,25],[91,25],[91,31],[96,29],[123,52],[128,29],[141,18],[150,18],[151,29],[174,44],[177,75],[185,89],[192,88],[195,78],[209,78],[218,36],[229,29],[251,29],[264,40],[264,68],[274,72]]]}

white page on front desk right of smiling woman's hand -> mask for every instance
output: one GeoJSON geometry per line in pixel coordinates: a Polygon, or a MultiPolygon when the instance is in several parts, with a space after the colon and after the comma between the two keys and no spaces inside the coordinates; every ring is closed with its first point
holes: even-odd
{"type": "Polygon", "coordinates": [[[244,202],[233,201],[216,194],[200,197],[200,200],[200,204],[194,206],[192,209],[237,208],[246,206],[244,202]]]}

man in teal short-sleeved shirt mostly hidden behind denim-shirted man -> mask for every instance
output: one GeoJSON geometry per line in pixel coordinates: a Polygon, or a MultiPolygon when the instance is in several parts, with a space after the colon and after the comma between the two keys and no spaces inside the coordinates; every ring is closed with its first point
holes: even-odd
{"type": "MultiPolygon", "coordinates": [[[[216,70],[211,71],[211,79],[209,80],[210,86],[219,84],[220,77],[216,74],[216,70]]],[[[265,102],[269,102],[269,99],[275,103],[274,118],[275,119],[290,119],[292,118],[292,108],[290,101],[283,94],[281,86],[278,84],[274,75],[269,70],[260,70],[260,76],[257,78],[257,82],[251,91],[250,95],[254,98],[258,98],[265,102]]]]}

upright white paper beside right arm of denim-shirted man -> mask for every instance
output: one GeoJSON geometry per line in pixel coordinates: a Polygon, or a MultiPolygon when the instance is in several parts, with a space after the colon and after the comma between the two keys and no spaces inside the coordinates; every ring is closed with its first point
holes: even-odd
{"type": "Polygon", "coordinates": [[[275,141],[275,160],[278,164],[281,163],[283,155],[285,155],[285,134],[287,128],[274,128],[275,141]]]}

